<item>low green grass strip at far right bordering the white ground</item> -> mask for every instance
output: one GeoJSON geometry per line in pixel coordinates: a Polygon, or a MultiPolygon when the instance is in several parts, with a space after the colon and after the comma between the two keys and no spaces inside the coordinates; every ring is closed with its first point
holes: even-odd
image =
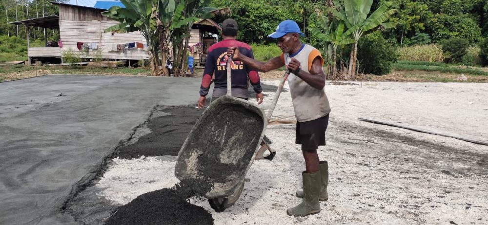
{"type": "Polygon", "coordinates": [[[437,71],[442,73],[452,73],[452,74],[471,74],[471,75],[483,75],[488,76],[488,72],[476,69],[469,69],[469,68],[456,68],[450,67],[449,64],[446,63],[435,63],[435,62],[407,62],[400,61],[398,63],[393,64],[394,70],[404,70],[404,71],[413,71],[413,70],[421,70],[421,71],[437,71]],[[426,65],[427,64],[427,65],[426,65]]]}

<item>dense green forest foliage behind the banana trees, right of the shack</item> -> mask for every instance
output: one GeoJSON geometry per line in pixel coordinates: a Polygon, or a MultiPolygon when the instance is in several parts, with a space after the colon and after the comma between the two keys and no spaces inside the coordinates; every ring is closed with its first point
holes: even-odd
{"type": "MultiPolygon", "coordinates": [[[[305,30],[307,41],[316,43],[307,27],[319,25],[316,12],[326,11],[328,2],[332,0],[212,0],[210,6],[231,9],[241,28],[240,40],[264,43],[280,21],[293,19],[305,30]]],[[[346,1],[340,2],[344,5],[346,1]]],[[[397,26],[386,30],[384,37],[394,45],[440,43],[449,38],[476,44],[488,37],[488,0],[373,0],[370,12],[387,2],[396,13],[386,22],[397,26]]]]}

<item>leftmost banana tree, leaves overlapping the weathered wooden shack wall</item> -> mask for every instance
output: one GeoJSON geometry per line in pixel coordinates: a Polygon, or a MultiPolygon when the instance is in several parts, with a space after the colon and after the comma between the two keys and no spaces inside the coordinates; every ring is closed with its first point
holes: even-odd
{"type": "Polygon", "coordinates": [[[140,31],[148,45],[149,61],[152,75],[158,75],[160,61],[158,57],[158,36],[156,34],[156,21],[152,17],[156,0],[121,0],[125,8],[112,6],[103,16],[114,19],[119,24],[113,25],[104,32],[127,33],[140,31]]]}

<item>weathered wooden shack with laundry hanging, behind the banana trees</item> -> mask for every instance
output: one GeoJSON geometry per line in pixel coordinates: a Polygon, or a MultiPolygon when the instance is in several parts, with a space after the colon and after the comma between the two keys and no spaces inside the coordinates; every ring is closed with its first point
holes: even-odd
{"type": "MultiPolygon", "coordinates": [[[[106,28],[118,23],[102,16],[102,12],[106,9],[60,2],[51,3],[59,6],[59,16],[53,15],[11,22],[17,25],[25,25],[28,30],[32,27],[59,29],[60,41],[55,40],[59,42],[58,47],[47,47],[48,38],[46,38],[46,47],[30,47],[29,40],[27,41],[29,64],[33,60],[43,58],[54,57],[62,60],[62,56],[65,56],[67,52],[88,59],[140,60],[149,58],[144,47],[134,47],[123,51],[117,49],[117,45],[120,44],[139,42],[145,46],[146,42],[141,32],[105,33],[106,28]],[[87,43],[88,47],[84,46],[82,50],[79,50],[80,43],[87,43]]],[[[210,46],[209,44],[217,41],[211,35],[218,34],[221,29],[220,25],[211,19],[203,19],[193,25],[188,45],[191,47],[189,49],[191,50],[190,56],[193,56],[197,63],[204,62],[205,50],[210,46]],[[201,51],[198,51],[199,47],[201,47],[201,51]]]]}

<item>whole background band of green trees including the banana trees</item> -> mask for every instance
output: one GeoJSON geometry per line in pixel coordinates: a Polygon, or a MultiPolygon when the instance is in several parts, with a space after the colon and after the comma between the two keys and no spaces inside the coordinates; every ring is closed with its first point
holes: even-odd
{"type": "MultiPolygon", "coordinates": [[[[106,32],[141,31],[149,45],[153,75],[168,75],[173,60],[175,75],[186,71],[186,52],[191,26],[199,19],[221,23],[233,18],[239,24],[238,39],[268,43],[266,36],[279,22],[295,20],[305,33],[304,41],[323,52],[329,76],[336,76],[338,50],[348,46],[347,79],[355,79],[359,39],[375,30],[395,46],[441,43],[463,38],[478,44],[488,36],[488,0],[121,0],[103,15],[121,22],[106,32]],[[229,8],[229,12],[217,9],[229,8]],[[360,15],[360,17],[356,17],[360,15]]],[[[0,0],[3,21],[57,14],[46,0],[0,0]],[[15,19],[13,19],[15,16],[15,19]]],[[[0,35],[25,36],[25,30],[1,23],[0,35]]],[[[42,30],[34,30],[32,38],[42,30]]],[[[54,32],[56,33],[56,32],[54,32]]],[[[55,34],[53,34],[55,35],[55,34]]],[[[59,35],[59,32],[57,33],[59,35]]]]}

